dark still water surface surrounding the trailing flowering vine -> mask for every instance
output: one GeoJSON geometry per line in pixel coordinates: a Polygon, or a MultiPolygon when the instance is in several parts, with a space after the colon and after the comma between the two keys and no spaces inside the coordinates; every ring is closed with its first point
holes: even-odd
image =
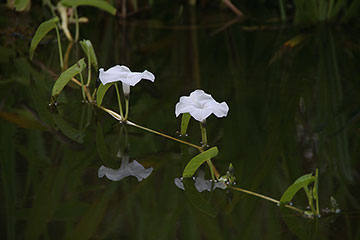
{"type": "MultiPolygon", "coordinates": [[[[180,96],[204,89],[228,103],[226,118],[208,119],[208,138],[219,148],[217,169],[232,163],[237,186],[280,199],[318,168],[320,208],[333,196],[341,213],[312,220],[221,189],[196,195],[199,206],[174,183],[195,149],[119,124],[82,103],[75,85],[50,108],[60,73],[55,35],[31,62],[38,22],[9,19],[0,38],[2,239],[360,239],[358,28],[227,25],[226,16],[194,13],[175,26],[104,17],[81,28],[100,67],[155,74],[155,83],[132,88],[131,120],[178,136],[180,96]],[[140,182],[98,177],[102,165],[118,169],[127,157],[151,174],[140,182]]],[[[83,57],[78,45],[69,52],[69,65],[83,57]]],[[[103,105],[117,110],[113,89],[103,105]]],[[[192,121],[186,140],[200,139],[192,121]]],[[[306,209],[304,192],[293,203],[306,209]]]]}

